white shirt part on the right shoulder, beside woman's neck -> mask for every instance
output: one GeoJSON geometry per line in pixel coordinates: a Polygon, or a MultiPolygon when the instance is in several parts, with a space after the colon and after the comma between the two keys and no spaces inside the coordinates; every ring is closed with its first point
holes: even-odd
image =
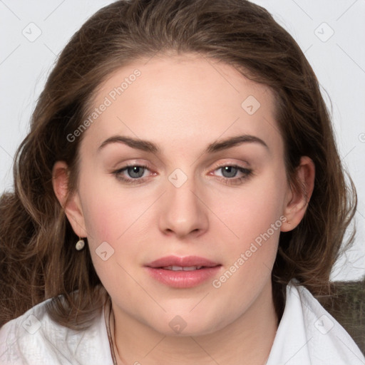
{"type": "Polygon", "coordinates": [[[364,355],[346,330],[308,289],[287,285],[284,314],[267,365],[363,365],[364,355]]]}

